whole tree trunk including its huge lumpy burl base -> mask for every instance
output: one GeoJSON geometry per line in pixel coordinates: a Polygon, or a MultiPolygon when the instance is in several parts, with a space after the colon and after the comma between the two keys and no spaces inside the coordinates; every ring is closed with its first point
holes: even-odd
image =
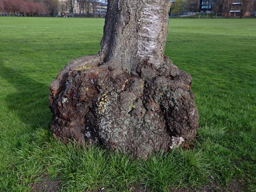
{"type": "Polygon", "coordinates": [[[51,130],[147,158],[196,135],[192,78],[164,56],[171,0],[109,0],[101,50],[50,84],[51,130]]]}

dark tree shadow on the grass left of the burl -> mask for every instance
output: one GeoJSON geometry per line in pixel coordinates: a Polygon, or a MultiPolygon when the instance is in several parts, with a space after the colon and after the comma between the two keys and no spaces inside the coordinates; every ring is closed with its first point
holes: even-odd
{"type": "Polygon", "coordinates": [[[50,124],[49,85],[28,76],[28,70],[13,69],[0,60],[0,76],[14,88],[6,88],[7,112],[13,113],[33,129],[50,124]],[[15,91],[14,91],[15,90],[15,91]]]}

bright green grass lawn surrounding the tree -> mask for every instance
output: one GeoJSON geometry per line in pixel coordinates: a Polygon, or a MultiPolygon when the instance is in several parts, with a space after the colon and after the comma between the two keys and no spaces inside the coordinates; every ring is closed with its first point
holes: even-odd
{"type": "Polygon", "coordinates": [[[256,191],[256,20],[170,19],[166,55],[193,76],[200,128],[193,149],[148,161],[66,146],[48,130],[50,82],[70,60],[98,52],[103,25],[100,18],[0,18],[0,191],[30,191],[42,174],[66,192],[229,188],[235,180],[256,191]]]}

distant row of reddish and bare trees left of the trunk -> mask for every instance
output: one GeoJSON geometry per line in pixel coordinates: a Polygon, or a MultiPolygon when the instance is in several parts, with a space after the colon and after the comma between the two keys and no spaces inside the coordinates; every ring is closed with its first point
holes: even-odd
{"type": "Polygon", "coordinates": [[[38,16],[46,14],[46,16],[55,16],[61,12],[74,15],[75,9],[80,14],[94,12],[96,13],[96,5],[105,0],[0,0],[0,9],[4,13],[10,15],[21,16],[38,16]]]}

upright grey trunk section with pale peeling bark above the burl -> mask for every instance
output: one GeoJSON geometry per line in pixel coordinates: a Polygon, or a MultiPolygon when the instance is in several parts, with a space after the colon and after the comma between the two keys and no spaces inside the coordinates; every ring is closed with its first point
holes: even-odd
{"type": "Polygon", "coordinates": [[[109,1],[100,54],[132,72],[139,61],[159,68],[168,33],[169,0],[109,1]]]}

